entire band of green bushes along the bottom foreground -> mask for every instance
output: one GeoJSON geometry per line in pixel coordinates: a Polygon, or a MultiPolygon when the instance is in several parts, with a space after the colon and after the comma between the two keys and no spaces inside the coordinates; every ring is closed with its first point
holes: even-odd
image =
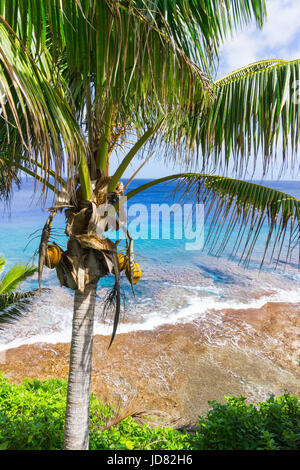
{"type": "MultiPolygon", "coordinates": [[[[0,449],[62,449],[67,385],[65,381],[25,380],[11,385],[0,376],[0,449]]],[[[200,417],[194,433],[126,418],[106,431],[113,409],[92,396],[91,449],[300,449],[300,401],[288,393],[257,405],[227,398],[200,417]]]]}

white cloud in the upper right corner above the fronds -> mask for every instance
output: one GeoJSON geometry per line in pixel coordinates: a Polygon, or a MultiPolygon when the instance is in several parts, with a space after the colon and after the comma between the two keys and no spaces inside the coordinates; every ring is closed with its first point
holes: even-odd
{"type": "Polygon", "coordinates": [[[261,59],[300,58],[300,1],[267,0],[266,4],[268,17],[262,30],[251,25],[226,41],[219,76],[261,59]]]}

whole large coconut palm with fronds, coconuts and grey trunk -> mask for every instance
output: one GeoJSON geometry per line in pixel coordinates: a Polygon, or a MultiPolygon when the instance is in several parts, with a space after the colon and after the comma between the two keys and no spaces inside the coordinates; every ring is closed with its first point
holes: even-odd
{"type": "MultiPolygon", "coordinates": [[[[53,217],[65,210],[67,250],[53,249],[61,284],[75,290],[65,448],[87,449],[96,286],[109,272],[115,275],[107,304],[116,307],[112,339],[120,312],[117,246],[105,238],[107,218],[97,208],[114,205],[122,225],[121,177],[138,151],[158,139],[166,156],[174,154],[187,167],[197,162],[200,148],[203,169],[207,162],[222,163],[223,149],[225,163],[231,153],[236,162],[247,163],[241,155],[249,157],[250,143],[255,155],[262,147],[270,161],[279,125],[284,148],[291,136],[295,149],[298,108],[286,99],[286,90],[299,62],[294,75],[288,72],[291,64],[268,61],[217,83],[208,78],[226,31],[253,17],[262,24],[262,0],[32,0],[30,5],[28,14],[24,2],[1,2],[0,158],[8,168],[35,177],[42,194],[55,194],[40,244],[40,280],[44,263],[51,265],[53,217]],[[136,142],[111,175],[113,150],[132,130],[136,142]]],[[[248,259],[265,218],[267,247],[272,234],[274,250],[280,247],[288,226],[298,236],[299,201],[250,182],[203,171],[172,175],[125,194],[131,198],[168,180],[178,180],[204,201],[213,197],[215,221],[229,225],[220,249],[233,226],[240,224],[243,235],[250,224],[244,246],[248,259]]],[[[213,227],[214,245],[219,226],[213,227]]],[[[126,235],[133,284],[132,241],[126,235]]],[[[239,237],[236,247],[241,242],[239,237]]]]}

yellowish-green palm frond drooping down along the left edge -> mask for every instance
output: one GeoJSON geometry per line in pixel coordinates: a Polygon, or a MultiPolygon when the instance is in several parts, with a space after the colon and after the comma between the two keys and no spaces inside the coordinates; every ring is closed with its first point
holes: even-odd
{"type": "Polygon", "coordinates": [[[47,181],[50,166],[58,177],[65,170],[70,172],[85,144],[61,81],[54,74],[53,61],[46,48],[34,60],[32,51],[1,16],[0,90],[1,150],[9,154],[10,164],[16,153],[25,161],[30,156],[34,171],[44,172],[47,181]]]}

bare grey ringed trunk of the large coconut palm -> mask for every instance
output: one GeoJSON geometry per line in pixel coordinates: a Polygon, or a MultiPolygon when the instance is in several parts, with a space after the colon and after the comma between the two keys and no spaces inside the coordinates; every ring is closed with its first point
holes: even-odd
{"type": "Polygon", "coordinates": [[[88,450],[94,311],[97,283],[75,291],[67,408],[65,450],[88,450]]]}

